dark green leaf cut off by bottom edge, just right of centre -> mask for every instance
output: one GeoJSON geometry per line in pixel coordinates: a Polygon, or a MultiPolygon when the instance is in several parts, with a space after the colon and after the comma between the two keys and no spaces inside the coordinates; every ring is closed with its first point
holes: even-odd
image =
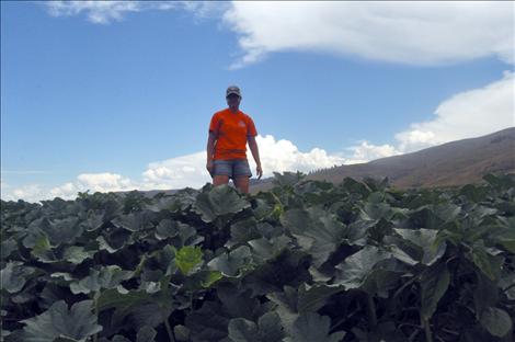
{"type": "Polygon", "coordinates": [[[331,320],[328,316],[316,312],[300,315],[294,322],[291,335],[285,342],[339,342],[345,332],[337,331],[330,334],[331,320]]]}

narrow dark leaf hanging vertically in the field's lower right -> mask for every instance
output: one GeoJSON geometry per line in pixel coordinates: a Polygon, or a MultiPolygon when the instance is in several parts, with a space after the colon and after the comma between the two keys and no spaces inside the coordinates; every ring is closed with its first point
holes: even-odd
{"type": "Polygon", "coordinates": [[[421,316],[428,320],[449,287],[450,274],[445,263],[426,269],[421,276],[421,316]]]}

